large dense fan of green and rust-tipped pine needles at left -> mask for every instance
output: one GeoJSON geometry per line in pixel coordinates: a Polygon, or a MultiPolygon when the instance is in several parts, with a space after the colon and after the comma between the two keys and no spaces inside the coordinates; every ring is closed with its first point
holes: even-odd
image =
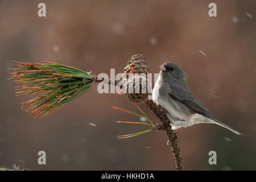
{"type": "Polygon", "coordinates": [[[14,61],[18,68],[9,73],[15,82],[16,96],[38,94],[22,103],[22,109],[35,118],[43,118],[67,102],[75,100],[93,84],[94,77],[80,69],[43,61],[45,64],[29,64],[14,61]]]}

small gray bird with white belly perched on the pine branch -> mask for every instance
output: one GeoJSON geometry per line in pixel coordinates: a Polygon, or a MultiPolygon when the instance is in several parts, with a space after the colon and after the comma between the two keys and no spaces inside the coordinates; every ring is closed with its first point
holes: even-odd
{"type": "Polygon", "coordinates": [[[159,69],[159,76],[152,91],[152,100],[163,108],[172,130],[179,131],[198,123],[207,123],[243,135],[213,117],[203,102],[198,100],[188,88],[187,73],[183,72],[179,65],[167,62],[160,65],[159,69]]]}

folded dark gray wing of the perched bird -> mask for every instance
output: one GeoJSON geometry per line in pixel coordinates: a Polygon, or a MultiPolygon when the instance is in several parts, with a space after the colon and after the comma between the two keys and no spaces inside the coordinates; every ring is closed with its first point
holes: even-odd
{"type": "Polygon", "coordinates": [[[193,96],[187,84],[183,83],[183,85],[181,85],[172,82],[168,83],[168,85],[170,86],[170,89],[167,91],[168,96],[170,96],[172,99],[179,101],[196,113],[203,114],[207,117],[212,116],[212,113],[210,113],[207,107],[205,107],[202,102],[200,102],[195,96],[193,96]]]}

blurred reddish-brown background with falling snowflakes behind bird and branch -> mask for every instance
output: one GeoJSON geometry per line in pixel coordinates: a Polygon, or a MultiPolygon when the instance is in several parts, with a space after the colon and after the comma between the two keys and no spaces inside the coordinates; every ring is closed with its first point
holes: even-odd
{"type": "MultiPolygon", "coordinates": [[[[99,73],[123,72],[142,53],[151,73],[166,61],[188,74],[192,92],[214,117],[245,134],[216,126],[180,131],[187,170],[256,169],[256,2],[251,1],[0,1],[0,166],[36,170],[174,170],[163,131],[126,140],[119,134],[146,129],[115,121],[138,121],[112,109],[137,109],[126,97],[97,93],[93,85],[79,99],[43,119],[20,109],[31,96],[15,97],[7,75],[11,60],[56,63],[99,73]],[[208,16],[210,2],[217,17],[208,16]],[[96,126],[93,126],[92,124],[96,126]],[[38,164],[38,151],[47,164],[38,164]],[[217,165],[208,163],[217,152],[217,165]]],[[[157,118],[143,105],[150,117],[157,118]]]]}

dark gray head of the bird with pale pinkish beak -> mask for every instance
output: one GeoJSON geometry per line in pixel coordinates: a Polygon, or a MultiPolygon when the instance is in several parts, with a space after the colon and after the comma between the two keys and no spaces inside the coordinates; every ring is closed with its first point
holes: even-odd
{"type": "Polygon", "coordinates": [[[159,66],[160,75],[175,80],[185,80],[187,74],[175,63],[167,62],[159,66]]]}

